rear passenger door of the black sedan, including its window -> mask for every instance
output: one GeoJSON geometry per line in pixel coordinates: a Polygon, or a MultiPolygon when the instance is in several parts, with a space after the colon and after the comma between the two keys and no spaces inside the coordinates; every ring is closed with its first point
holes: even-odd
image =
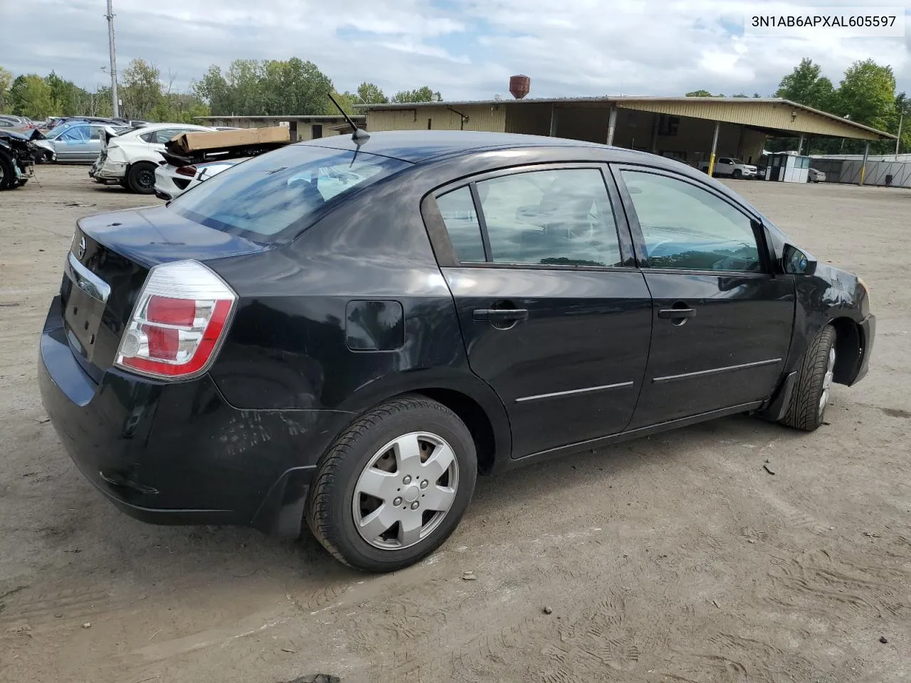
{"type": "Polygon", "coordinates": [[[441,266],[468,362],[507,408],[513,457],[618,433],[636,404],[651,301],[605,173],[510,168],[425,201],[455,253],[441,266]]]}

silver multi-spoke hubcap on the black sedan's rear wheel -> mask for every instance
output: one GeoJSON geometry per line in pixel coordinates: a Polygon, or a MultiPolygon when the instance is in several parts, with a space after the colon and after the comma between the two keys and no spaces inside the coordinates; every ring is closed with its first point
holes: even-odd
{"type": "Polygon", "coordinates": [[[458,461],[441,436],[412,432],[374,454],[354,486],[354,526],[364,541],[401,550],[434,532],[455,501],[458,461]]]}

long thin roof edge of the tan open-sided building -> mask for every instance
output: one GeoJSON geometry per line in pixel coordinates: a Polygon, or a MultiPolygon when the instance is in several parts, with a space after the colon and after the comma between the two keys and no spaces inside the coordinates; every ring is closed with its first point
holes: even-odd
{"type": "MultiPolygon", "coordinates": [[[[522,106],[525,104],[574,104],[574,103],[604,103],[604,104],[616,104],[619,107],[624,107],[640,103],[642,105],[654,104],[654,105],[683,105],[691,107],[691,113],[688,116],[695,114],[701,105],[702,107],[709,108],[710,110],[719,105],[734,105],[740,107],[748,107],[755,105],[786,105],[788,107],[794,107],[795,109],[814,114],[819,117],[825,117],[831,121],[837,122],[838,124],[846,127],[852,127],[857,130],[864,130],[867,133],[873,133],[876,137],[882,139],[896,139],[896,136],[891,133],[886,133],[883,130],[877,130],[869,126],[864,126],[855,121],[852,121],[849,118],[837,117],[834,114],[816,109],[814,107],[807,107],[806,105],[801,105],[796,102],[793,102],[789,99],[783,99],[781,97],[656,97],[656,96],[643,96],[643,97],[632,97],[632,96],[604,96],[604,97],[526,97],[525,99],[478,99],[478,100],[458,100],[454,102],[390,102],[387,104],[375,104],[375,105],[354,105],[355,108],[370,112],[370,111],[383,111],[383,110],[392,110],[392,109],[414,109],[415,107],[471,107],[471,106],[494,106],[494,105],[509,105],[509,106],[522,106]]],[[[640,107],[636,107],[640,108],[640,107]]],[[[644,108],[644,107],[641,107],[644,108]]],[[[760,123],[760,125],[762,125],[760,123]]],[[[810,131],[816,132],[816,131],[810,131]]]]}

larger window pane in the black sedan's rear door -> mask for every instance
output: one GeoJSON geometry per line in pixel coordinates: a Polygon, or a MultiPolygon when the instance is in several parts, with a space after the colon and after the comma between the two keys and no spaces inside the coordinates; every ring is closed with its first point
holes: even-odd
{"type": "Polygon", "coordinates": [[[496,263],[619,266],[617,226],[598,168],[517,173],[477,183],[496,263]]]}

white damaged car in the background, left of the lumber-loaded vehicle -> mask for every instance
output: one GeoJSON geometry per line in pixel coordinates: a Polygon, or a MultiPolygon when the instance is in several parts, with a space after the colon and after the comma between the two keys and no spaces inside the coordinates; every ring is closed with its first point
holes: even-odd
{"type": "Polygon", "coordinates": [[[121,185],[132,192],[155,192],[155,168],[165,143],[181,133],[213,130],[186,123],[155,123],[102,139],[101,152],[88,175],[104,185],[121,185]]]}

